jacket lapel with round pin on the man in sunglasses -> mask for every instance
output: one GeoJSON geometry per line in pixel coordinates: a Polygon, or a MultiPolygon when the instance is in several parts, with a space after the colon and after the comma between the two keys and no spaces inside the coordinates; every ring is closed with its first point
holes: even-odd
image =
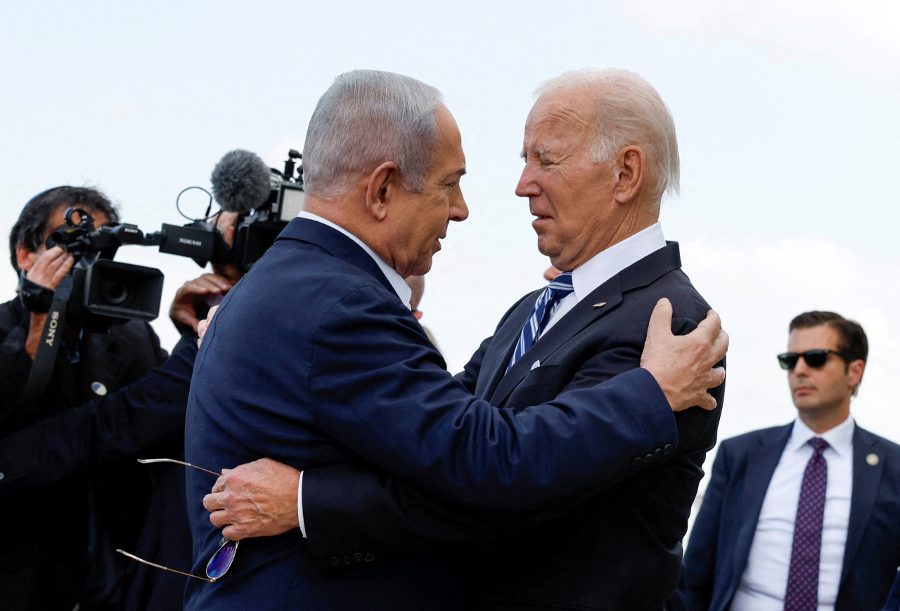
{"type": "Polygon", "coordinates": [[[884,472],[884,452],[879,452],[878,438],[859,426],[853,429],[853,492],[851,495],[850,524],[847,527],[847,543],[844,546],[841,581],[847,577],[853,557],[862,541],[862,534],[869,523],[869,514],[878,496],[878,483],[884,472]],[[878,460],[869,458],[877,456],[878,460]],[[871,463],[875,463],[872,465],[871,463]]]}

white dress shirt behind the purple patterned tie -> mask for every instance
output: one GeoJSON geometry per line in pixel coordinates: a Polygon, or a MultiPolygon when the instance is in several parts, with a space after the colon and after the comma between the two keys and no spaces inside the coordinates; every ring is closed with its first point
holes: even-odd
{"type": "Polygon", "coordinates": [[[783,611],[788,589],[791,546],[797,501],[806,463],[813,456],[807,442],[821,437],[828,442],[823,455],[828,465],[822,555],[819,558],[818,611],[833,611],[841,580],[850,504],[853,492],[853,428],[850,416],[833,429],[817,435],[798,418],[772,474],[762,501],[760,519],[747,558],[741,584],[734,594],[731,611],[783,611]]]}

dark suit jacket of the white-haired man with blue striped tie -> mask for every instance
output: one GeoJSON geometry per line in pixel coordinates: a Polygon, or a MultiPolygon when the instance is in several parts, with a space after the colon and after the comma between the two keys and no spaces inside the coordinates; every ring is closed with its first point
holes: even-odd
{"type": "MultiPolygon", "coordinates": [[[[539,293],[509,311],[457,376],[500,412],[552,402],[638,367],[650,314],[661,297],[671,299],[675,332],[692,330],[709,309],[680,270],[678,244],[671,243],[582,299],[506,372],[539,293]],[[532,368],[536,360],[540,366],[532,368]]],[[[721,405],[724,387],[713,394],[721,405]]],[[[641,426],[634,407],[623,406],[614,415],[617,429],[641,426]]],[[[497,507],[490,513],[466,513],[458,500],[453,504],[428,498],[383,474],[366,475],[346,466],[313,469],[304,474],[303,483],[310,543],[314,553],[334,562],[373,548],[493,538],[464,553],[463,583],[470,606],[658,610],[679,579],[680,539],[703,474],[701,465],[716,442],[720,412],[692,408],[678,413],[677,447],[632,457],[633,471],[516,516],[497,507]],[[516,534],[504,535],[509,531],[516,534]]],[[[564,447],[537,451],[555,452],[558,460],[565,460],[564,447]]],[[[527,507],[511,509],[521,512],[527,507]]]]}

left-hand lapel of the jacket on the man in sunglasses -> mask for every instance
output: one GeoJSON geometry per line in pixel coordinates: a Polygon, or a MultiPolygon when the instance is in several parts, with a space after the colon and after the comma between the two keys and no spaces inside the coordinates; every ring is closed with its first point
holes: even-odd
{"type": "MultiPolygon", "coordinates": [[[[756,524],[760,520],[762,501],[769,490],[769,483],[775,467],[778,466],[781,454],[788,445],[793,422],[778,429],[771,429],[768,435],[761,435],[757,445],[750,447],[745,456],[747,473],[744,477],[743,498],[741,507],[735,508],[742,518],[739,520],[737,536],[734,540],[734,575],[738,577],[747,566],[756,524]]],[[[735,584],[736,587],[736,584],[735,584]]]]}

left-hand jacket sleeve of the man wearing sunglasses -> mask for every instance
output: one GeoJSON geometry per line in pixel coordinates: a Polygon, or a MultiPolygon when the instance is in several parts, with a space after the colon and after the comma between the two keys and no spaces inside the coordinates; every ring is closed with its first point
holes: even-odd
{"type": "Polygon", "coordinates": [[[731,472],[728,444],[719,447],[713,473],[684,555],[684,566],[677,595],[691,611],[709,608],[716,583],[716,556],[725,487],[731,472]]]}

